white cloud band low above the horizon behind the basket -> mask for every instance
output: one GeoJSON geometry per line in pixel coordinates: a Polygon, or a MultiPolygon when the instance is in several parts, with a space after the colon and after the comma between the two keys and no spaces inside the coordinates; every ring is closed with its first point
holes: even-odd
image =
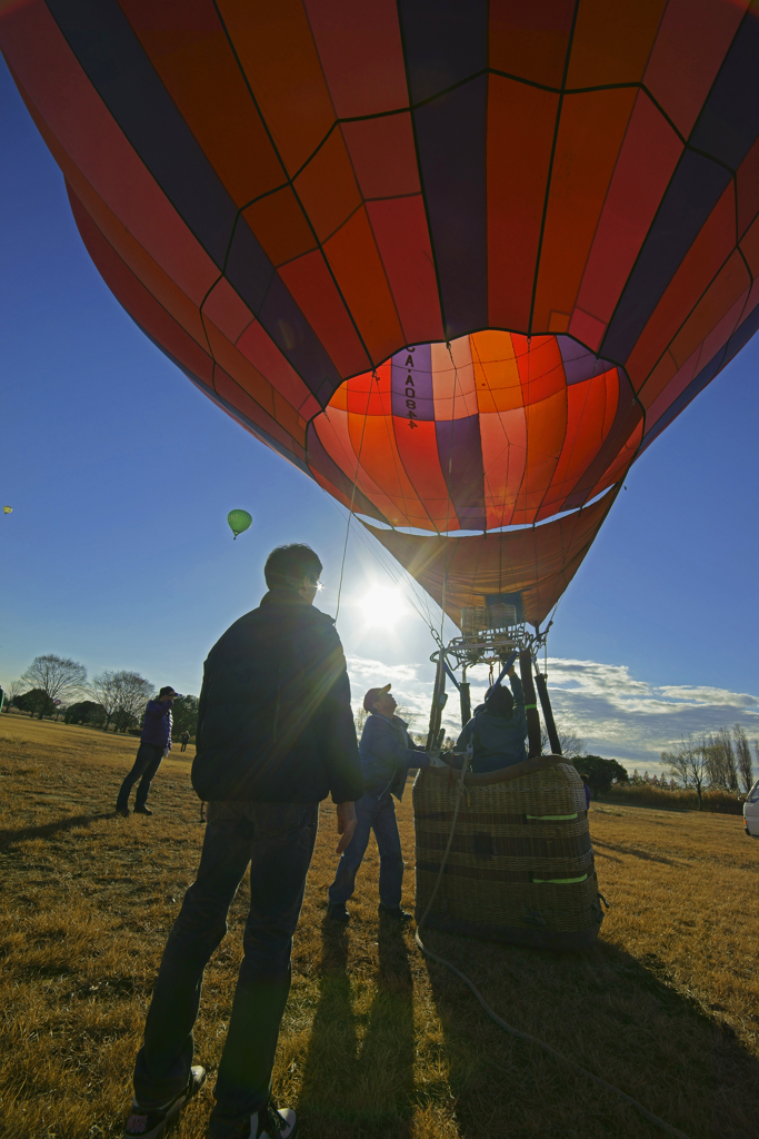
{"type": "MultiPolygon", "coordinates": [[[[348,671],[355,706],[374,685],[393,683],[393,693],[414,713],[412,728],[423,731],[432,693],[432,666],[385,665],[381,661],[349,657],[348,671]]],[[[482,699],[488,683],[484,666],[472,669],[472,704],[482,699]]],[[[759,696],[725,688],[693,685],[652,685],[630,674],[627,665],[548,657],[548,689],[554,715],[564,730],[580,736],[591,753],[620,760],[628,768],[661,767],[661,752],[671,749],[688,732],[717,731],[742,723],[749,735],[759,731],[759,696]]],[[[460,730],[459,698],[448,683],[444,724],[460,730]]]]}

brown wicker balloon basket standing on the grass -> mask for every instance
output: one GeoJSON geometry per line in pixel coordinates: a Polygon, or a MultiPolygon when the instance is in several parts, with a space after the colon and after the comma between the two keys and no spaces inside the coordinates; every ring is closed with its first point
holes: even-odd
{"type": "MultiPolygon", "coordinates": [[[[414,782],[416,920],[435,890],[460,772],[414,782]]],[[[559,755],[468,775],[426,925],[541,949],[585,949],[602,920],[583,781],[559,755]]]]}

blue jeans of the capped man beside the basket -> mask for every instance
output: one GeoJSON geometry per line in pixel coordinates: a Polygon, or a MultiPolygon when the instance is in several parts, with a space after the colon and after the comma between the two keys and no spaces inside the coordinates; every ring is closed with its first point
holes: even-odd
{"type": "Polygon", "coordinates": [[[389,909],[397,909],[401,904],[403,854],[395,804],[389,792],[380,798],[365,793],[356,803],[356,829],[337,865],[335,882],[329,888],[330,904],[347,902],[353,896],[356,874],[372,830],[380,852],[380,902],[389,909]]]}

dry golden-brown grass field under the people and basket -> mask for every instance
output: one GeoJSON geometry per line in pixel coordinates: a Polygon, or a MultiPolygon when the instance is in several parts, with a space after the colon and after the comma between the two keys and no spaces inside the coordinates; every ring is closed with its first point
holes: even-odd
{"type": "MultiPolygon", "coordinates": [[[[121,1134],[131,1064],[203,826],[185,760],[154,818],[113,817],[137,741],[0,719],[0,1134],[121,1134]]],[[[192,751],[188,752],[190,759],[192,751]]],[[[399,811],[413,904],[411,795],[399,811]]],[[[718,814],[596,805],[597,945],[560,957],[429,934],[511,1024],[642,1100],[691,1139],[759,1131],[759,842],[718,814]]],[[[347,929],[323,923],[333,810],[296,936],[274,1090],[303,1139],[641,1139],[613,1096],[501,1032],[411,932],[380,928],[368,855],[347,929]]],[[[246,887],[206,973],[197,1058],[213,1073],[241,952],[246,887]]],[[[213,1079],[208,1089],[213,1087],[213,1079]]],[[[207,1090],[175,1139],[203,1139],[207,1090]]]]}

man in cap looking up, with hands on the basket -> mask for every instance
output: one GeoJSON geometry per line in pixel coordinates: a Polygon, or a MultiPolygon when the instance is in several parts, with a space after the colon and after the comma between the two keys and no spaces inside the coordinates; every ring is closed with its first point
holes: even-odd
{"type": "Polygon", "coordinates": [[[356,829],[329,888],[327,913],[335,921],[349,920],[345,903],[353,896],[356,874],[372,830],[380,854],[380,917],[396,921],[411,917],[401,909],[403,854],[393,796],[398,800],[403,796],[409,768],[427,768],[430,762],[439,764],[440,761],[411,743],[407,724],[395,715],[397,704],[390,696],[390,687],[370,688],[364,696],[369,716],[358,746],[364,794],[356,803],[356,829]]]}

